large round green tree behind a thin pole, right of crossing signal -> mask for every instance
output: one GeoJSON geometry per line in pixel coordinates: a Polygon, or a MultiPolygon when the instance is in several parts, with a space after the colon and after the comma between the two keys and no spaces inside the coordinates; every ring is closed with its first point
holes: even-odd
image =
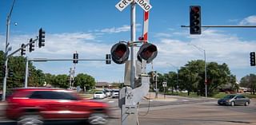
{"type": "MultiPolygon", "coordinates": [[[[197,92],[198,95],[205,95],[205,62],[202,60],[189,61],[185,67],[179,70],[180,88],[189,92],[197,92]]],[[[237,89],[236,77],[230,73],[227,64],[210,62],[207,69],[207,95],[212,96],[224,84],[231,84],[232,89],[237,89]]]]}

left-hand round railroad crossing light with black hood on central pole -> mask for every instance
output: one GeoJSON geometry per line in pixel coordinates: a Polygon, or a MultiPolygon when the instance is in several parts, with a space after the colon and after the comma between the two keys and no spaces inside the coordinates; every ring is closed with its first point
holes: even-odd
{"type": "Polygon", "coordinates": [[[111,57],[116,64],[123,64],[128,60],[130,49],[125,43],[119,42],[112,46],[111,57]]]}

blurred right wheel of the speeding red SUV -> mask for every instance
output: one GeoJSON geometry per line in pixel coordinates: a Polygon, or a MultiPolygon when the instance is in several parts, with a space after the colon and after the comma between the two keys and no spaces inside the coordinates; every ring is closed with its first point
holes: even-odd
{"type": "Polygon", "coordinates": [[[88,118],[90,125],[104,125],[108,122],[108,117],[102,113],[94,113],[88,118]]]}

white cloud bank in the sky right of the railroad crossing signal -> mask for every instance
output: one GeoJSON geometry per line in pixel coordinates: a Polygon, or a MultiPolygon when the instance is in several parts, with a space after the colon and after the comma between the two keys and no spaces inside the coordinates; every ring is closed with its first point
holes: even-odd
{"type": "MultiPolygon", "coordinates": [[[[187,37],[187,34],[183,37],[187,37]]],[[[238,69],[245,70],[250,64],[249,53],[256,48],[256,41],[242,41],[237,36],[213,29],[207,29],[200,36],[190,35],[188,38],[186,41],[172,38],[159,39],[160,42],[156,44],[158,57],[154,60],[154,68],[170,68],[172,67],[170,64],[181,67],[191,60],[204,60],[203,50],[206,50],[207,62],[226,63],[231,72],[238,69]],[[190,44],[196,45],[198,49],[190,44]]],[[[236,75],[238,72],[232,73],[236,75]]]]}

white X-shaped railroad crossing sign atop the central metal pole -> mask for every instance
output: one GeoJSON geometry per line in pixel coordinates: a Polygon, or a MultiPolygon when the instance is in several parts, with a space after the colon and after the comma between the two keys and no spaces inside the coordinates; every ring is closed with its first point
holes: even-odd
{"type": "Polygon", "coordinates": [[[120,2],[118,2],[118,4],[117,5],[115,5],[115,7],[118,9],[118,10],[120,10],[120,11],[122,11],[122,10],[124,10],[125,8],[126,8],[126,6],[129,6],[130,5],[130,3],[131,2],[136,2],[139,6],[141,6],[142,7],[142,9],[144,10],[144,11],[149,11],[151,8],[152,8],[152,6],[150,5],[150,3],[149,2],[146,2],[146,0],[121,0],[120,2]]]}

